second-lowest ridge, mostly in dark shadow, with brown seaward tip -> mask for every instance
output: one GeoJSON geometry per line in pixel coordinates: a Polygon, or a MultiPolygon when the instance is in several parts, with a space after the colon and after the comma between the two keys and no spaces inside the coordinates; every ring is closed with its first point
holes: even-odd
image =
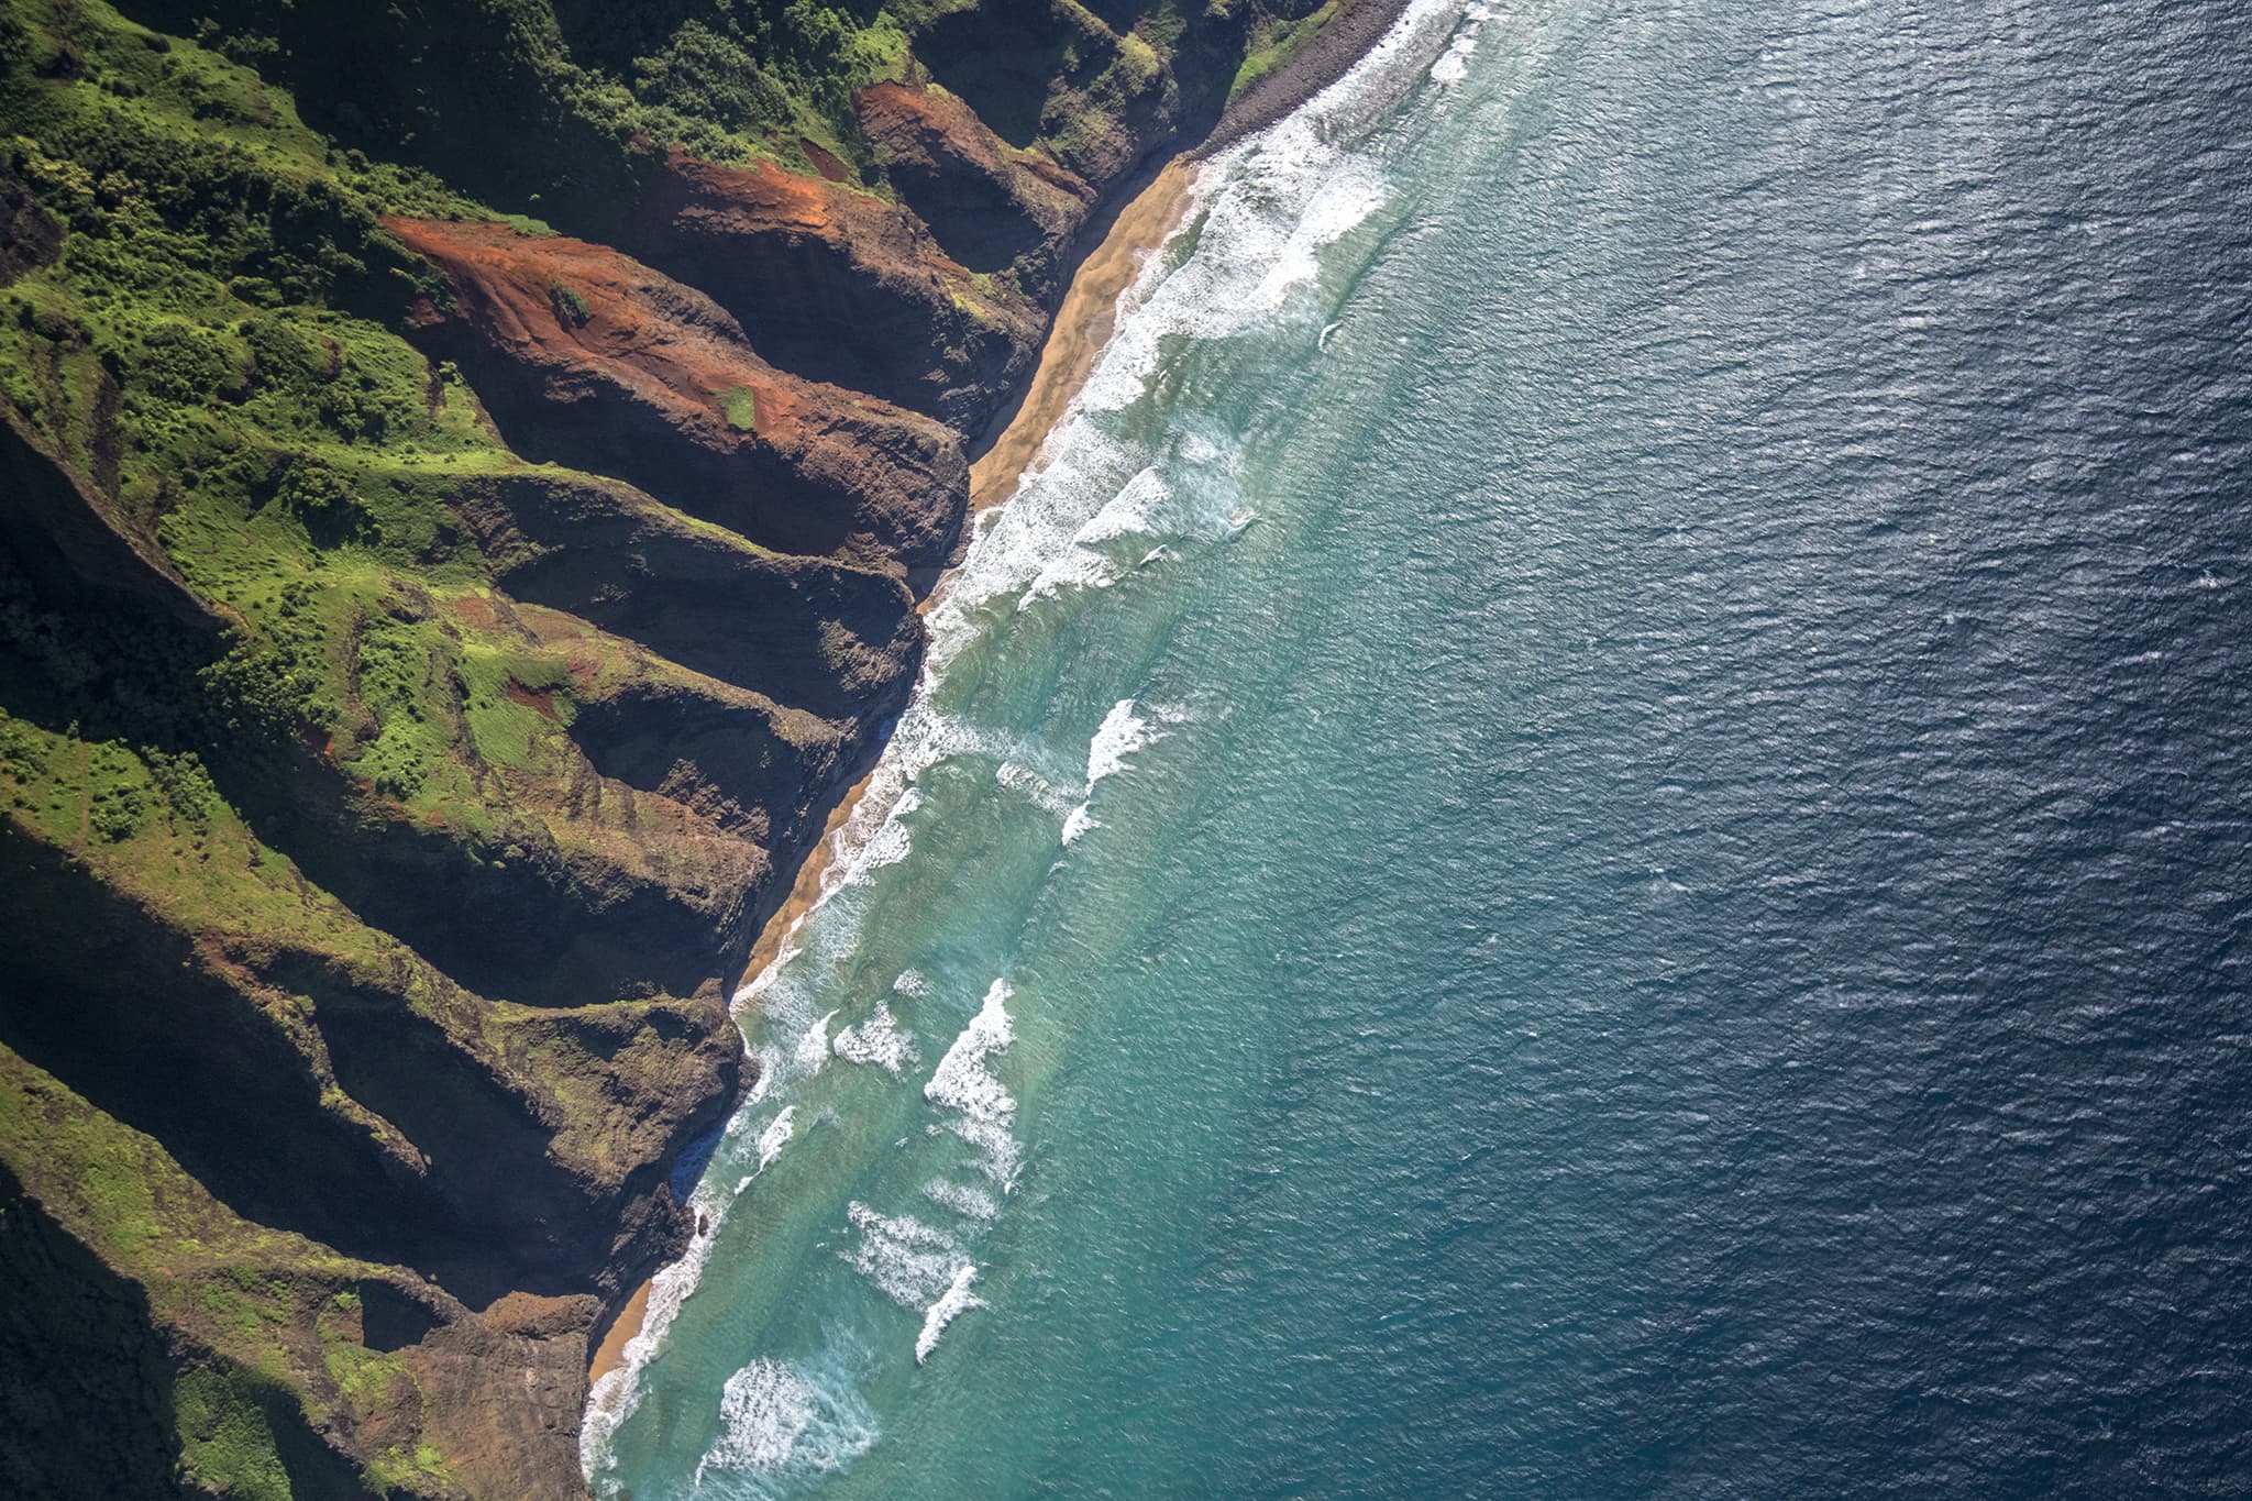
{"type": "Polygon", "coordinates": [[[349,952],[345,914],[338,938],[187,936],[153,893],[16,830],[0,864],[0,898],[41,918],[11,954],[0,1042],[259,1222],[426,1267],[477,1305],[583,1289],[622,1224],[653,1249],[682,1238],[660,1161],[741,1062],[716,997],[495,1010],[403,945],[349,952]]]}

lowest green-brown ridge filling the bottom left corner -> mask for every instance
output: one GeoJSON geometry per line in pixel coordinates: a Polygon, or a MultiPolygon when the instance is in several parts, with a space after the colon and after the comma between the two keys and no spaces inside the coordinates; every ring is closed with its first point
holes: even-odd
{"type": "Polygon", "coordinates": [[[0,1148],[27,1143],[43,1150],[20,1177],[0,1168],[7,1494],[581,1490],[597,1298],[480,1310],[248,1222],[153,1136],[0,1046],[0,1148]],[[230,1355],[243,1325],[254,1364],[230,1355]]]}

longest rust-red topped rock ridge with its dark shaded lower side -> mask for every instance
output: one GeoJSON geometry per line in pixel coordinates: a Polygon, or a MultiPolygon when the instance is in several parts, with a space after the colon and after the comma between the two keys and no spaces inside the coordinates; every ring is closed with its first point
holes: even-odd
{"type": "Polygon", "coordinates": [[[703,293],[640,261],[507,225],[394,218],[453,281],[426,342],[462,362],[509,446],[628,479],[795,554],[941,567],[968,466],[912,412],[784,374],[703,293]]]}

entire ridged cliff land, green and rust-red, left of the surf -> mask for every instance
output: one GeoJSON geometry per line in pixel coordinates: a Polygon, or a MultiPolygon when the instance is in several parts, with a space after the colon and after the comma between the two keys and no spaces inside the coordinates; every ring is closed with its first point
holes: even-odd
{"type": "Polygon", "coordinates": [[[1311,0],[0,0],[0,1490],[577,1496],[1106,203],[1311,0]]]}

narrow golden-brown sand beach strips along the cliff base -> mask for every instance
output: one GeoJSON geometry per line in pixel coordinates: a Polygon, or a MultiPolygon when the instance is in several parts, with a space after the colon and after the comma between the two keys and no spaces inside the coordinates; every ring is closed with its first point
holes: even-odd
{"type": "MultiPolygon", "coordinates": [[[[1117,299],[1142,272],[1146,254],[1164,245],[1187,216],[1198,167],[1218,151],[1275,126],[1342,79],[1389,34],[1407,7],[1410,0],[1353,0],[1347,5],[1306,47],[1230,104],[1203,140],[1167,158],[1155,176],[1110,216],[1101,239],[1072,272],[1022,396],[971,464],[971,518],[1007,504],[1022,479],[1036,473],[1047,439],[1070,412],[1110,342],[1117,324],[1117,299]]],[[[944,587],[946,578],[941,576],[937,587],[923,596],[919,612],[928,614],[944,587]]],[[[874,774],[876,767],[869,765],[829,812],[820,839],[797,864],[788,896],[761,925],[734,983],[734,995],[781,959],[790,934],[820,907],[826,875],[844,853],[840,835],[865,801],[874,774]]],[[[590,1393],[597,1382],[626,1364],[626,1346],[640,1337],[649,1319],[653,1280],[644,1278],[633,1289],[592,1348],[590,1393]]]]}

